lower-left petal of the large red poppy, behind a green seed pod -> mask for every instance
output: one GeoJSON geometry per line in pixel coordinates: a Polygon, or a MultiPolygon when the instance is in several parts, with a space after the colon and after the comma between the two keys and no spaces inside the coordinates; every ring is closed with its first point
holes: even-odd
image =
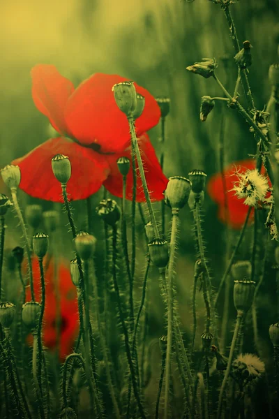
{"type": "Polygon", "coordinates": [[[20,166],[20,188],[35,198],[62,202],[61,184],[52,172],[52,157],[65,154],[72,166],[67,184],[70,200],[85,199],[102,186],[109,173],[105,156],[66,138],[52,138],[13,164],[20,166]]]}

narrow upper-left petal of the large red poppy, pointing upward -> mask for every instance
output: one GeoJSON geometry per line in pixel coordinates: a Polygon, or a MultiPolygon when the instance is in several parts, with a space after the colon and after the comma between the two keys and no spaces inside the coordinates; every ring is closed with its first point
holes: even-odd
{"type": "Polygon", "coordinates": [[[67,133],[64,110],[68,98],[75,90],[73,83],[64,78],[55,68],[38,64],[31,70],[33,101],[52,126],[61,134],[67,133]]]}

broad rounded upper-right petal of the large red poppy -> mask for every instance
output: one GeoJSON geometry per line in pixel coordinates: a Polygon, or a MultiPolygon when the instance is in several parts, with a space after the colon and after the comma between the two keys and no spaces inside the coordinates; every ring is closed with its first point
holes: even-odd
{"type": "MultiPolygon", "coordinates": [[[[83,144],[96,143],[102,152],[121,152],[130,140],[127,117],[114,101],[114,84],[128,80],[119,75],[96,73],[70,96],[65,118],[71,136],[83,144]]],[[[149,91],[135,88],[145,98],[144,111],[137,119],[137,134],[149,130],[160,119],[160,108],[149,91]]]]}

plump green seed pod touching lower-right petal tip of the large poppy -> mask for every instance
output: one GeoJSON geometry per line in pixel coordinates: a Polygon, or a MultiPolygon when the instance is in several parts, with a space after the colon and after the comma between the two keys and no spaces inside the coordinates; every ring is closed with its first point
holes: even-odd
{"type": "Polygon", "coordinates": [[[165,190],[165,203],[172,210],[180,210],[187,203],[190,193],[190,180],[182,176],[169,177],[165,190]]]}

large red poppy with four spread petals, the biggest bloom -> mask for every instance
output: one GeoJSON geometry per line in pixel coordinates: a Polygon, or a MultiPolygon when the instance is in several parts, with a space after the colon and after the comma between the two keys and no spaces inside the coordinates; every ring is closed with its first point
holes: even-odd
{"type": "MultiPolygon", "coordinates": [[[[122,196],[122,176],[116,161],[130,159],[130,130],[126,115],[119,110],[112,86],[127,80],[119,75],[96,73],[74,88],[54,66],[38,64],[32,71],[33,101],[61,135],[51,138],[13,164],[20,166],[20,188],[35,198],[61,201],[61,186],[52,173],[51,159],[65,154],[72,165],[67,184],[69,199],[85,199],[102,184],[115,196],[122,196]]],[[[160,119],[160,108],[149,91],[135,84],[145,98],[136,132],[142,152],[151,200],[162,200],[167,178],[145,131],[160,119]]],[[[131,170],[130,170],[131,172],[131,170]]],[[[128,175],[127,198],[132,198],[132,175],[128,175]]],[[[142,182],[137,182],[137,201],[144,201],[142,182]]]]}

